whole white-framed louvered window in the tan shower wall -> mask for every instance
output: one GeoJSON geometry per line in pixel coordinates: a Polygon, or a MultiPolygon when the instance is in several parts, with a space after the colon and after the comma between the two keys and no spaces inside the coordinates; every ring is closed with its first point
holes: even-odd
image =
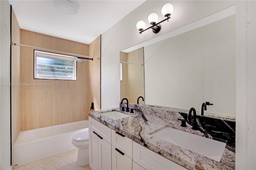
{"type": "Polygon", "coordinates": [[[73,57],[34,50],[34,79],[76,80],[73,57]]]}

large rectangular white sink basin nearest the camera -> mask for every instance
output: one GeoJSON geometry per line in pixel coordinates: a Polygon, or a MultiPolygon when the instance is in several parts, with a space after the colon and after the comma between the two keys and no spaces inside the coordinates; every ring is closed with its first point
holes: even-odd
{"type": "Polygon", "coordinates": [[[166,127],[152,134],[182,148],[220,162],[226,143],[166,127]]]}

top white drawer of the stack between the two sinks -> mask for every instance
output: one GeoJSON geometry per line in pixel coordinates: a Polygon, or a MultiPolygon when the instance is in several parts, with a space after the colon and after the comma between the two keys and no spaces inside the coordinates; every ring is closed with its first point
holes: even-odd
{"type": "Polygon", "coordinates": [[[111,130],[112,140],[111,143],[114,147],[118,148],[124,154],[132,158],[132,140],[127,138],[126,136],[116,132],[115,130],[111,130]]]}

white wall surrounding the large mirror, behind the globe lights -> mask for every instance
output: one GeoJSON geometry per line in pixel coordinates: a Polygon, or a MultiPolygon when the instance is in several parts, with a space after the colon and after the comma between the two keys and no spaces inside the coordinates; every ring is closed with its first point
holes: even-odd
{"type": "Polygon", "coordinates": [[[236,44],[236,168],[255,169],[256,62],[255,33],[253,33],[253,29],[255,32],[255,1],[146,1],[102,34],[102,109],[119,107],[120,51],[234,4],[236,4],[236,13],[238,14],[236,15],[236,37],[238,38],[236,44]],[[138,34],[136,23],[139,20],[146,22],[148,14],[151,12],[156,12],[159,20],[163,19],[161,8],[166,2],[171,2],[174,6],[170,21],[161,24],[162,29],[158,34],[154,34],[150,30],[143,32],[142,35],[138,34]],[[250,26],[247,27],[248,25],[250,26]],[[246,37],[250,39],[249,42],[246,42],[246,37]],[[249,93],[250,91],[251,93],[249,93]],[[250,101],[250,103],[246,103],[246,101],[250,101]]]}

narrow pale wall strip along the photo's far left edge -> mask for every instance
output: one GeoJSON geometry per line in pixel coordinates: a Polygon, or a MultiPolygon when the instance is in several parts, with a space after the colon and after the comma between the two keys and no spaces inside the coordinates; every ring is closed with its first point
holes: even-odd
{"type": "MultiPolygon", "coordinates": [[[[1,0],[0,83],[10,83],[10,4],[1,0]]],[[[10,168],[10,86],[0,87],[0,162],[1,170],[10,168]]]]}

